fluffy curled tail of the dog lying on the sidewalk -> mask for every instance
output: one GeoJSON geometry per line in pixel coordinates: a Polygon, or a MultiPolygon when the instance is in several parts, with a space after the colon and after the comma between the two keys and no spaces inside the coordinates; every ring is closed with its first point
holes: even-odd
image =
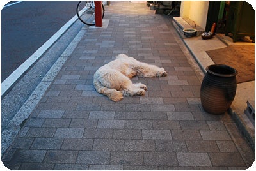
{"type": "Polygon", "coordinates": [[[123,93],[120,91],[117,91],[116,89],[109,89],[107,87],[104,87],[100,84],[99,81],[93,82],[94,87],[97,92],[100,94],[104,94],[108,96],[108,98],[112,101],[120,101],[123,99],[123,93]]]}

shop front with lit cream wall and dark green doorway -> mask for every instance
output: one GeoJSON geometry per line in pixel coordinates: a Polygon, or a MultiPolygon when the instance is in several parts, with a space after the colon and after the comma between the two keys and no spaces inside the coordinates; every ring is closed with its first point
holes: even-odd
{"type": "Polygon", "coordinates": [[[246,1],[181,1],[180,17],[188,17],[196,26],[231,36],[233,41],[249,36],[254,42],[255,12],[246,1]]]}

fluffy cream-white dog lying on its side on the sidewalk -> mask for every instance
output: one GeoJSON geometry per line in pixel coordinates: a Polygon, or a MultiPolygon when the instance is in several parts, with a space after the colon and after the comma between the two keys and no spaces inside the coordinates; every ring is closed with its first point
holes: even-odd
{"type": "Polygon", "coordinates": [[[124,96],[141,96],[147,86],[141,83],[133,84],[130,78],[134,76],[152,78],[166,76],[164,68],[141,63],[133,57],[119,54],[114,61],[101,66],[94,74],[95,89],[113,101],[120,101],[124,96]]]}

